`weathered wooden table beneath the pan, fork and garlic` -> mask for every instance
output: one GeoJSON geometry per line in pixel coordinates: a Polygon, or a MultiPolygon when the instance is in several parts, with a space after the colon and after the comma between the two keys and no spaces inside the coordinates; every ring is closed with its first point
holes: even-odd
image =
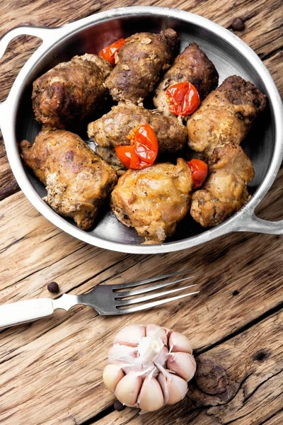
{"type": "MultiPolygon", "coordinates": [[[[59,26],[96,11],[147,4],[199,13],[238,32],[258,53],[278,89],[282,78],[280,0],[1,1],[0,36],[26,24],[59,26]]],[[[0,62],[1,98],[39,40],[21,36],[0,62]]],[[[282,219],[282,171],[258,215],[282,219]]],[[[194,268],[201,293],[127,317],[99,317],[87,307],[58,311],[50,319],[1,331],[0,422],[4,425],[132,425],[283,423],[282,237],[229,234],[187,251],[158,256],[119,254],[61,232],[19,191],[0,143],[1,303],[47,297],[56,280],[61,293],[86,293],[102,282],[120,283],[168,270],[194,268]],[[158,264],[158,267],[156,266],[158,264]],[[170,267],[168,267],[170,265],[170,267]],[[101,376],[117,329],[154,322],[190,336],[197,379],[178,405],[154,414],[116,412],[101,376]],[[280,357],[281,355],[281,357],[280,357]],[[280,388],[281,385],[281,388],[280,388]]]]}

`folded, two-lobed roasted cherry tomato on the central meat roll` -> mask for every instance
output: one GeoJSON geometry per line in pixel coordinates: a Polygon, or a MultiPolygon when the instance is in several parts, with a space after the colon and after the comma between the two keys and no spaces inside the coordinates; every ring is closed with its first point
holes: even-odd
{"type": "Polygon", "coordinates": [[[115,152],[123,165],[143,169],[154,164],[158,154],[158,141],[148,124],[141,124],[129,133],[129,146],[116,146],[115,152]]]}

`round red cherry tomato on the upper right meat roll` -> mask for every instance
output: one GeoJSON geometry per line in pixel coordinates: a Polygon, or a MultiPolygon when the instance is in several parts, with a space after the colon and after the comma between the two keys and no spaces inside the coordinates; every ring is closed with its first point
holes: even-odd
{"type": "Polygon", "coordinates": [[[191,83],[178,83],[166,90],[169,111],[174,115],[186,117],[195,112],[200,105],[200,96],[191,83]]]}

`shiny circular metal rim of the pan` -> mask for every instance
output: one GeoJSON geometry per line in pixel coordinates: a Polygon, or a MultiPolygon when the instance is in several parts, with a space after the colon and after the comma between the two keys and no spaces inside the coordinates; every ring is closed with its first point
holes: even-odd
{"type": "Polygon", "coordinates": [[[226,233],[244,229],[245,222],[249,220],[249,217],[253,214],[253,210],[255,209],[256,205],[260,203],[263,196],[265,196],[265,193],[267,193],[268,189],[275,180],[283,157],[282,101],[275,83],[272,80],[270,72],[268,72],[258,55],[256,55],[256,53],[248,45],[246,45],[243,40],[238,38],[229,30],[226,30],[226,28],[223,28],[218,24],[209,21],[207,18],[203,18],[202,16],[198,16],[187,11],[182,11],[180,9],[156,6],[130,6],[125,8],[111,9],[109,11],[104,11],[96,13],[92,16],[88,16],[87,18],[83,18],[74,23],[69,23],[66,26],[49,29],[48,32],[52,32],[54,37],[50,38],[50,40],[47,42],[45,42],[43,39],[42,45],[21,69],[21,72],[18,74],[18,77],[13,84],[8,98],[5,102],[1,103],[0,108],[0,111],[3,112],[4,117],[4,120],[1,120],[1,130],[3,132],[6,152],[11,169],[14,176],[16,177],[16,180],[18,181],[19,186],[23,190],[23,193],[25,193],[25,196],[30,200],[35,208],[54,225],[64,230],[64,232],[67,232],[68,234],[76,237],[77,239],[82,240],[83,242],[93,244],[100,248],[111,249],[112,251],[120,251],[132,254],[158,254],[187,249],[212,240],[226,233]],[[224,40],[229,42],[233,48],[241,53],[241,55],[246,57],[246,60],[252,64],[252,66],[257,70],[262,78],[265,77],[265,85],[267,87],[269,95],[268,97],[270,99],[270,109],[275,121],[275,147],[272,160],[270,162],[270,167],[264,179],[262,180],[262,183],[260,183],[260,186],[250,198],[248,203],[241,210],[236,212],[236,214],[230,217],[229,220],[226,220],[226,222],[223,222],[221,225],[218,225],[212,229],[207,229],[202,234],[189,237],[178,242],[166,242],[164,244],[158,245],[124,244],[121,242],[112,242],[110,240],[101,239],[100,237],[97,237],[88,232],[83,232],[83,230],[75,227],[74,225],[71,225],[69,222],[64,220],[63,217],[60,217],[40,198],[28,180],[28,176],[25,174],[23,164],[21,163],[21,157],[18,153],[15,135],[16,114],[25,81],[28,78],[28,74],[30,74],[31,70],[37,67],[43,57],[45,57],[45,55],[47,55],[50,50],[54,50],[56,45],[67,41],[67,39],[75,35],[75,33],[88,28],[89,26],[97,25],[98,23],[109,21],[113,18],[124,18],[127,16],[131,17],[137,15],[151,15],[160,18],[175,18],[177,20],[186,21],[187,23],[194,23],[197,26],[205,26],[205,28],[208,28],[218,37],[224,38],[224,40]]]}

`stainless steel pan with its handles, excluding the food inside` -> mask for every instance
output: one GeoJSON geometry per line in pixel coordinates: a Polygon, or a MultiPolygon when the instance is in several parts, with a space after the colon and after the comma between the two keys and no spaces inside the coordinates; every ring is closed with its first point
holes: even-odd
{"type": "MultiPolygon", "coordinates": [[[[283,233],[283,220],[267,222],[255,217],[255,207],[275,180],[283,157],[282,101],[270,73],[253,50],[233,33],[192,13],[149,6],[118,8],[88,16],[60,28],[28,28],[12,30],[0,40],[0,52],[16,35],[33,34],[42,38],[42,45],[25,64],[4,103],[0,103],[0,126],[13,174],[25,196],[54,225],[74,237],[114,251],[135,254],[157,254],[187,249],[229,232],[253,231],[283,233]],[[141,245],[134,229],[117,221],[111,212],[101,212],[91,232],[83,232],[74,222],[57,215],[42,199],[45,188],[25,169],[18,153],[17,142],[34,140],[39,125],[33,118],[30,100],[32,81],[55,64],[69,60],[75,54],[97,53],[115,38],[140,30],[158,32],[172,27],[178,31],[183,49],[195,41],[214,62],[220,80],[233,74],[252,81],[268,97],[268,106],[243,142],[243,149],[252,159],[255,179],[250,185],[252,198],[233,217],[212,229],[204,229],[192,219],[184,220],[168,242],[141,245]]],[[[82,135],[83,138],[86,135],[82,135]]]]}

